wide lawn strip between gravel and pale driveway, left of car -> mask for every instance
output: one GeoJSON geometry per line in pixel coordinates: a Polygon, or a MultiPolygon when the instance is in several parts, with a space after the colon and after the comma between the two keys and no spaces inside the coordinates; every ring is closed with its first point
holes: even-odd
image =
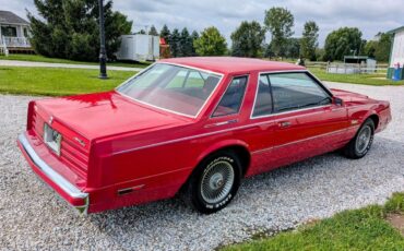
{"type": "Polygon", "coordinates": [[[135,72],[108,71],[99,80],[97,70],[0,67],[0,93],[61,96],[112,89],[135,72]]]}

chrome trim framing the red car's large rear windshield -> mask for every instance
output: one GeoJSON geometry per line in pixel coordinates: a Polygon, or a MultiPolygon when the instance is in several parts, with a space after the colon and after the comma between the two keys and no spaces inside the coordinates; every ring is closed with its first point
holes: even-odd
{"type": "Polygon", "coordinates": [[[223,73],[219,73],[219,72],[214,72],[214,71],[209,71],[209,70],[204,70],[204,69],[201,69],[201,68],[195,68],[195,67],[188,67],[188,65],[185,65],[185,64],[180,64],[180,63],[171,63],[171,62],[155,62],[153,64],[151,64],[150,67],[145,68],[144,70],[140,71],[138,74],[133,75],[132,77],[128,79],[127,81],[124,81],[122,84],[120,84],[119,86],[117,86],[115,88],[115,92],[117,92],[118,94],[120,94],[121,96],[123,97],[127,97],[133,101],[136,101],[136,103],[140,103],[140,104],[143,104],[143,105],[146,105],[146,106],[151,106],[151,107],[154,107],[156,109],[159,109],[159,110],[164,110],[164,111],[168,111],[168,112],[171,112],[171,113],[175,113],[175,115],[179,115],[179,116],[183,116],[183,117],[188,117],[188,118],[191,118],[191,119],[197,119],[201,111],[205,108],[206,104],[209,103],[209,100],[211,99],[211,97],[213,96],[213,94],[216,92],[216,89],[218,88],[219,85],[222,85],[222,82],[224,80],[224,75],[223,73]],[[163,107],[159,107],[159,106],[155,106],[155,105],[152,105],[152,104],[148,104],[148,103],[145,103],[145,101],[142,101],[142,100],[138,100],[131,96],[128,96],[121,92],[118,91],[119,87],[123,86],[124,84],[129,83],[129,81],[140,76],[143,72],[145,72],[146,70],[148,70],[151,67],[155,65],[155,64],[169,64],[169,65],[175,65],[175,67],[181,67],[181,68],[186,68],[186,69],[191,69],[191,70],[197,70],[197,71],[202,71],[202,72],[205,72],[205,73],[209,73],[209,74],[216,74],[216,75],[219,75],[219,80],[216,84],[216,86],[214,87],[214,89],[211,92],[211,94],[206,97],[206,100],[202,104],[201,108],[197,111],[195,116],[191,116],[191,115],[186,115],[186,113],[182,113],[182,112],[179,112],[179,111],[175,111],[175,110],[170,110],[170,109],[166,109],[166,108],[163,108],[163,107]]]}

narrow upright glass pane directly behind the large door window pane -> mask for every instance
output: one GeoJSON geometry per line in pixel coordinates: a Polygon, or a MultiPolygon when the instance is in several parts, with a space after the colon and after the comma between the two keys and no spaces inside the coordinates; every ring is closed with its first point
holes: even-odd
{"type": "Polygon", "coordinates": [[[260,75],[252,117],[273,112],[271,85],[268,75],[260,75]]]}

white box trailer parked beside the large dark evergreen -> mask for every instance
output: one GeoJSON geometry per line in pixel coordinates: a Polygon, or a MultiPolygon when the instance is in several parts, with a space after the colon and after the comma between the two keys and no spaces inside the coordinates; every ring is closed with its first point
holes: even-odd
{"type": "Polygon", "coordinates": [[[122,35],[118,60],[154,61],[159,58],[159,37],[144,34],[122,35]]]}

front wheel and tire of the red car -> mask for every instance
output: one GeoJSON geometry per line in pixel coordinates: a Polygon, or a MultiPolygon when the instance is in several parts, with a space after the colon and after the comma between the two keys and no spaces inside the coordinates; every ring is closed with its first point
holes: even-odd
{"type": "Polygon", "coordinates": [[[344,147],[343,154],[352,159],[364,157],[370,150],[375,138],[375,122],[367,119],[359,128],[355,138],[344,147]]]}

